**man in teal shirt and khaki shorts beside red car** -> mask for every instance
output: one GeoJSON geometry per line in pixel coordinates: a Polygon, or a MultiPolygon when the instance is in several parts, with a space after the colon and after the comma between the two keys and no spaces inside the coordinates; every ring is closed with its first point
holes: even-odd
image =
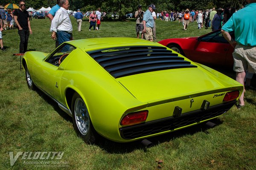
{"type": "MultiPolygon", "coordinates": [[[[244,85],[245,71],[256,73],[256,0],[246,0],[249,4],[237,11],[221,28],[221,32],[230,45],[233,53],[236,81],[244,85]],[[229,34],[235,32],[235,40],[229,34]]],[[[244,106],[244,92],[239,98],[238,108],[244,106]]]]}

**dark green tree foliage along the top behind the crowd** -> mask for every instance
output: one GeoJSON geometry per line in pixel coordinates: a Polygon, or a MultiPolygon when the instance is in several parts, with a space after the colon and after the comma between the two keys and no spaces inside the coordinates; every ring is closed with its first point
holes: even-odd
{"type": "MultiPolygon", "coordinates": [[[[18,4],[19,0],[1,0],[1,5],[7,3],[18,4]]],[[[84,11],[91,11],[92,9],[102,8],[105,12],[117,12],[120,16],[127,13],[134,13],[137,10],[137,6],[140,4],[143,6],[143,10],[147,9],[147,6],[151,3],[156,5],[156,11],[171,11],[171,10],[186,10],[186,8],[200,10],[215,8],[225,8],[227,3],[231,6],[241,8],[244,6],[246,0],[69,0],[70,10],[77,10],[78,8],[84,11]]],[[[27,8],[33,7],[35,9],[44,6],[52,7],[56,3],[56,0],[26,0],[27,8]]]]}

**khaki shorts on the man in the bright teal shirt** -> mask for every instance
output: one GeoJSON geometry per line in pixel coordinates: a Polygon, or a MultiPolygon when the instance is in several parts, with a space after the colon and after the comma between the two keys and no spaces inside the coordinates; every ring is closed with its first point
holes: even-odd
{"type": "Polygon", "coordinates": [[[234,71],[256,73],[256,47],[237,44],[233,58],[234,71]]]}

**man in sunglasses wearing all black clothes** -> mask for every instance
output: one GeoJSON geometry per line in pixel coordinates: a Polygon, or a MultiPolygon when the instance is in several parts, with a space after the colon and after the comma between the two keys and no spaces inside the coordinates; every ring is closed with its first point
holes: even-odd
{"type": "Polygon", "coordinates": [[[24,0],[19,1],[20,8],[13,13],[15,23],[18,27],[20,35],[20,53],[25,53],[28,47],[29,33],[32,34],[29,21],[29,12],[25,10],[26,4],[24,0]]]}

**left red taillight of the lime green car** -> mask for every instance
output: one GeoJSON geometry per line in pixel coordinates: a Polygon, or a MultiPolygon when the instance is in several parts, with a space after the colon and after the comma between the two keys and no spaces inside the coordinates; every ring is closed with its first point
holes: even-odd
{"type": "Polygon", "coordinates": [[[122,121],[121,125],[132,125],[132,124],[137,124],[141,122],[145,122],[148,117],[148,111],[140,111],[140,112],[135,112],[126,115],[122,121]]]}

